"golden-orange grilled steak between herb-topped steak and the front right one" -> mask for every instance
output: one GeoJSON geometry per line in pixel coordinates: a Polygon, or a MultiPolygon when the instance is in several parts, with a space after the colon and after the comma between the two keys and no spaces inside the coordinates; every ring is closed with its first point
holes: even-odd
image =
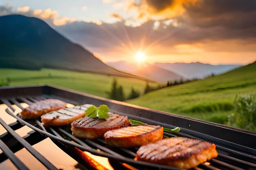
{"type": "Polygon", "coordinates": [[[104,134],[106,143],[120,148],[142,146],[163,138],[162,126],[129,126],[110,130],[104,134]]]}

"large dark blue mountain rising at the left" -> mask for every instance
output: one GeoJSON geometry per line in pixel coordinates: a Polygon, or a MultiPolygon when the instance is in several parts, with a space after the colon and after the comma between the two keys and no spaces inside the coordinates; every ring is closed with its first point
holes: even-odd
{"type": "Polygon", "coordinates": [[[73,71],[135,77],[111,68],[38,18],[0,17],[0,67],[73,71]]]}

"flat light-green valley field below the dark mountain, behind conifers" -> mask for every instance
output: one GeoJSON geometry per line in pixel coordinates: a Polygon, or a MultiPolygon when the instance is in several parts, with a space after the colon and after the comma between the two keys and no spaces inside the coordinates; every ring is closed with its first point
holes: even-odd
{"type": "MultiPolygon", "coordinates": [[[[106,98],[108,98],[106,91],[110,91],[114,78],[117,79],[119,85],[123,86],[126,96],[129,95],[132,87],[141,94],[144,92],[146,82],[134,78],[79,73],[48,68],[43,68],[40,71],[0,68],[0,83],[8,79],[10,86],[54,84],[106,98]]],[[[149,84],[150,86],[158,86],[156,83],[149,84]]]]}

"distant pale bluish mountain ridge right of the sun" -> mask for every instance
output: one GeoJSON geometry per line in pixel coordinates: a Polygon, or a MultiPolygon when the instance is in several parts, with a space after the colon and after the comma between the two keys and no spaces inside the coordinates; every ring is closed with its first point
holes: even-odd
{"type": "Polygon", "coordinates": [[[188,79],[202,79],[208,76],[220,75],[228,71],[234,70],[235,68],[241,67],[242,65],[211,65],[203,64],[200,62],[191,63],[158,63],[156,62],[154,66],[159,68],[178,73],[188,79]]]}

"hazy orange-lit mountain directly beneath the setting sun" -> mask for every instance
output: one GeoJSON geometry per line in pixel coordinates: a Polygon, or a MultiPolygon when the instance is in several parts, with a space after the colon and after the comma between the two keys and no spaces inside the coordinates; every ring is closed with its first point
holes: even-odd
{"type": "Polygon", "coordinates": [[[183,76],[177,73],[173,73],[171,71],[167,71],[147,63],[136,64],[126,61],[119,61],[108,62],[107,64],[113,68],[116,68],[117,70],[132,73],[147,79],[152,79],[159,83],[166,83],[168,80],[174,81],[184,79],[183,76]]]}

